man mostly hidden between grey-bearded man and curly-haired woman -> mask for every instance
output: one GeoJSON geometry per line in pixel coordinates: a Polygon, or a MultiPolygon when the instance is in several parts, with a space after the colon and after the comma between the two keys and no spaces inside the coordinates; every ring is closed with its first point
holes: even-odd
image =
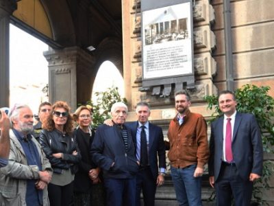
{"type": "Polygon", "coordinates": [[[32,135],[36,138],[36,140],[39,142],[39,136],[40,136],[40,131],[42,130],[42,122],[49,117],[49,114],[51,113],[52,105],[49,102],[42,102],[39,105],[38,108],[38,117],[39,121],[37,122],[36,125],[34,125],[34,131],[32,135]]]}

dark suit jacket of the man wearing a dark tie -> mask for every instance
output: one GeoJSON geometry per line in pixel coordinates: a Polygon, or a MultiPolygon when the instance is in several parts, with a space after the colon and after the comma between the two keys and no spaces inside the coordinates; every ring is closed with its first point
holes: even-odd
{"type": "MultiPolygon", "coordinates": [[[[137,122],[126,123],[126,126],[132,131],[132,138],[136,144],[137,122]]],[[[166,149],[164,146],[164,136],[162,128],[149,123],[149,165],[154,179],[157,179],[158,168],[166,168],[166,149]],[[159,165],[158,165],[159,159],[159,165]]]]}

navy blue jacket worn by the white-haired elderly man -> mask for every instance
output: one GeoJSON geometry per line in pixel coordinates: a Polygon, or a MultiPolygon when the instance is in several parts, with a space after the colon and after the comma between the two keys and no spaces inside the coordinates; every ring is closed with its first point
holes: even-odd
{"type": "Polygon", "coordinates": [[[128,135],[127,151],[119,126],[101,124],[96,130],[90,155],[92,161],[103,170],[104,178],[128,179],[134,177],[138,172],[132,133],[129,128],[126,129],[128,135]],[[113,167],[111,167],[112,163],[114,163],[113,167]]]}

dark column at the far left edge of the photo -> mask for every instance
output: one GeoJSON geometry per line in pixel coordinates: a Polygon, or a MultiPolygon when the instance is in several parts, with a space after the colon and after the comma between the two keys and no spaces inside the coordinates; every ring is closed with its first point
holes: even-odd
{"type": "Polygon", "coordinates": [[[0,0],[0,107],[10,104],[10,15],[16,5],[0,0]]]}

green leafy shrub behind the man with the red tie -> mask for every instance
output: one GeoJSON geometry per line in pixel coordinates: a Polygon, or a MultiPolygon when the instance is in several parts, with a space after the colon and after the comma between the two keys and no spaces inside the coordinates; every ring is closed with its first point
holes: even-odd
{"type": "MultiPolygon", "coordinates": [[[[252,113],[256,116],[261,129],[264,152],[273,153],[274,99],[268,95],[269,90],[270,87],[257,87],[252,84],[245,84],[242,88],[236,89],[234,94],[237,100],[237,111],[240,113],[252,113]]],[[[214,111],[210,122],[223,115],[216,95],[208,95],[205,97],[205,100],[208,102],[208,108],[214,111]]],[[[253,187],[253,198],[258,203],[265,203],[262,201],[262,187],[269,189],[269,180],[272,172],[273,163],[271,161],[264,161],[262,178],[258,179],[253,187]]]]}

